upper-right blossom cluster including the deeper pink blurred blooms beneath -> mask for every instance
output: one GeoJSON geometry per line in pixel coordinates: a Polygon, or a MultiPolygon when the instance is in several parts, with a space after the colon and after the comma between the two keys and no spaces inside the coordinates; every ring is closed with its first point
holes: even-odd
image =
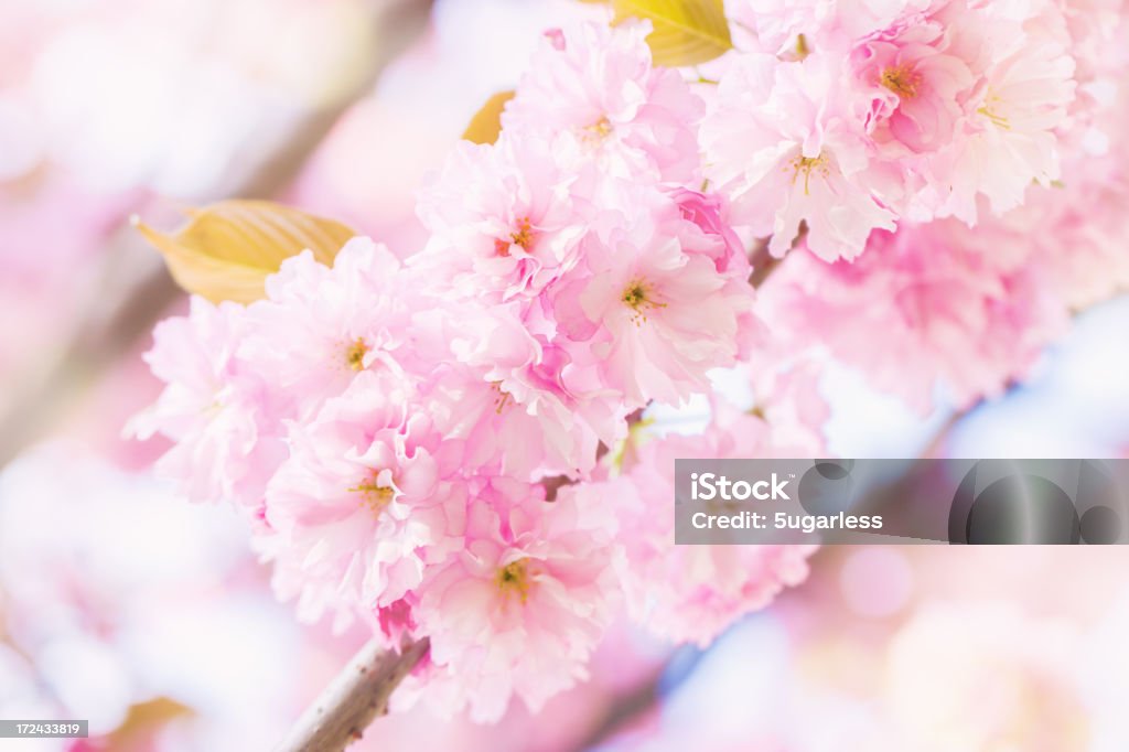
{"type": "Polygon", "coordinates": [[[785,352],[968,409],[1129,286],[1122,3],[727,8],[704,174],[788,254],[758,303],[785,352]]]}

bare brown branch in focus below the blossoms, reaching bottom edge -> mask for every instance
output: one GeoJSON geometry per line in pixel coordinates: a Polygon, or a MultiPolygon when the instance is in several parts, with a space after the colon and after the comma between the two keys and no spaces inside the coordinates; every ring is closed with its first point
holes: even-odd
{"type": "Polygon", "coordinates": [[[274,752],[340,752],[388,711],[393,690],[427,654],[427,638],[400,653],[369,640],[306,709],[274,752]]]}

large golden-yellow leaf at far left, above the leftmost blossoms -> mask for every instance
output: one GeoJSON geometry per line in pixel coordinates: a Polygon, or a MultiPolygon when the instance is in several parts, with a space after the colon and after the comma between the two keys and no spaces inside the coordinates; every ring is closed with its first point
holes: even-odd
{"type": "Polygon", "coordinates": [[[326,265],[356,233],[339,221],[270,201],[221,201],[189,212],[189,224],[159,233],[134,226],[165,256],[177,285],[212,303],[251,303],[282,261],[309,248],[326,265]]]}

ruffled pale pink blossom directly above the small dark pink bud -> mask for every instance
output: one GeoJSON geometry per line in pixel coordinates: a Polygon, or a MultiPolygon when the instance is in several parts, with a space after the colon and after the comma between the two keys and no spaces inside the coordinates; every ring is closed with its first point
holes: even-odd
{"type": "Polygon", "coordinates": [[[291,430],[266,490],[266,522],[285,542],[274,556],[360,609],[399,601],[462,542],[462,443],[445,440],[414,396],[401,377],[358,375],[291,430]]]}

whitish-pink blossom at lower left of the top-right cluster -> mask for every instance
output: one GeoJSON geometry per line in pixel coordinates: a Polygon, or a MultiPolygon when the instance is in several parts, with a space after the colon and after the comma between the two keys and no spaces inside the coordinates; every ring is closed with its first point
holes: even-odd
{"type": "Polygon", "coordinates": [[[736,60],[702,122],[707,176],[733,203],[733,222],[771,236],[780,256],[807,226],[812,252],[828,261],[861,253],[872,229],[893,229],[889,206],[901,186],[870,165],[843,61],[812,53],[781,62],[736,60]]]}

